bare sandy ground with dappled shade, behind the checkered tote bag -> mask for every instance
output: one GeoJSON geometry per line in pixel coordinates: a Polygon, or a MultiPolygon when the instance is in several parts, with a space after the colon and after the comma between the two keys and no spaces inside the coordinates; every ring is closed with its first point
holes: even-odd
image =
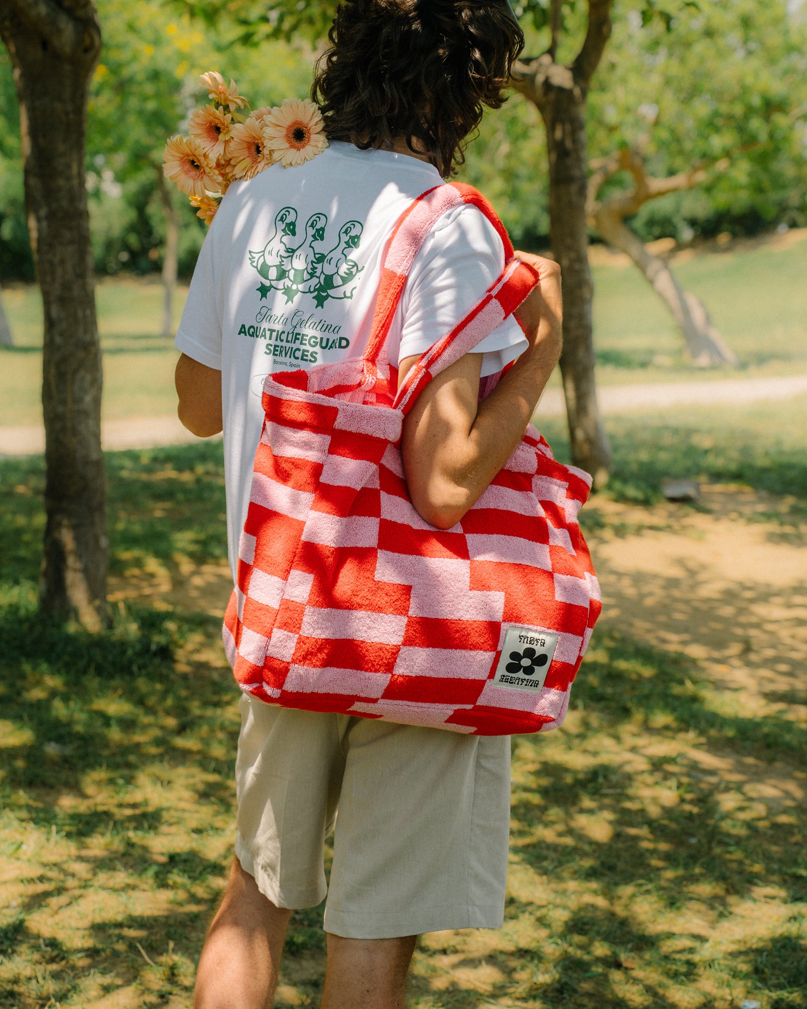
{"type": "MultiPolygon", "coordinates": [[[[807,539],[787,501],[727,484],[702,493],[699,510],[601,497],[586,506],[602,625],[697,659],[715,685],[741,692],[743,706],[776,709],[772,696],[805,690],[807,539]]],[[[218,616],[231,588],[226,564],[187,564],[113,579],[111,598],[218,616]]],[[[793,710],[807,718],[807,696],[793,710]]]]}

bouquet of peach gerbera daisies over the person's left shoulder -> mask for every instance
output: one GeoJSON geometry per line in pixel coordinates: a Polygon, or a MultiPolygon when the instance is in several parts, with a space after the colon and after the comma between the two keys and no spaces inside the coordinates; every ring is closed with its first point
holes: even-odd
{"type": "Polygon", "coordinates": [[[188,136],[178,134],[165,144],[162,171],[210,224],[231,183],[251,179],[270,164],[303,164],[328,146],[320,110],[310,99],[286,98],[249,115],[235,81],[221,74],[203,74],[199,83],[211,98],[188,121],[188,136]]]}

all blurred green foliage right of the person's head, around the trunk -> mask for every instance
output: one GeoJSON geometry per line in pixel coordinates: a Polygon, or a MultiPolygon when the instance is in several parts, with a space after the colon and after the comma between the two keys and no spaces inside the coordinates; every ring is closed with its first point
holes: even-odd
{"type": "MultiPolygon", "coordinates": [[[[581,42],[582,7],[563,6],[561,62],[581,42]]],[[[549,44],[544,8],[534,2],[516,10],[526,52],[537,55],[549,44]]],[[[806,71],[807,23],[784,0],[614,5],[589,93],[590,155],[642,142],[653,175],[717,165],[696,191],[647,203],[632,221],[643,239],[807,223],[806,71]]],[[[485,114],[462,178],[493,200],[517,242],[540,248],[549,231],[546,150],[540,116],[525,105],[513,96],[485,114]]],[[[625,182],[616,177],[609,187],[625,182]]]]}

